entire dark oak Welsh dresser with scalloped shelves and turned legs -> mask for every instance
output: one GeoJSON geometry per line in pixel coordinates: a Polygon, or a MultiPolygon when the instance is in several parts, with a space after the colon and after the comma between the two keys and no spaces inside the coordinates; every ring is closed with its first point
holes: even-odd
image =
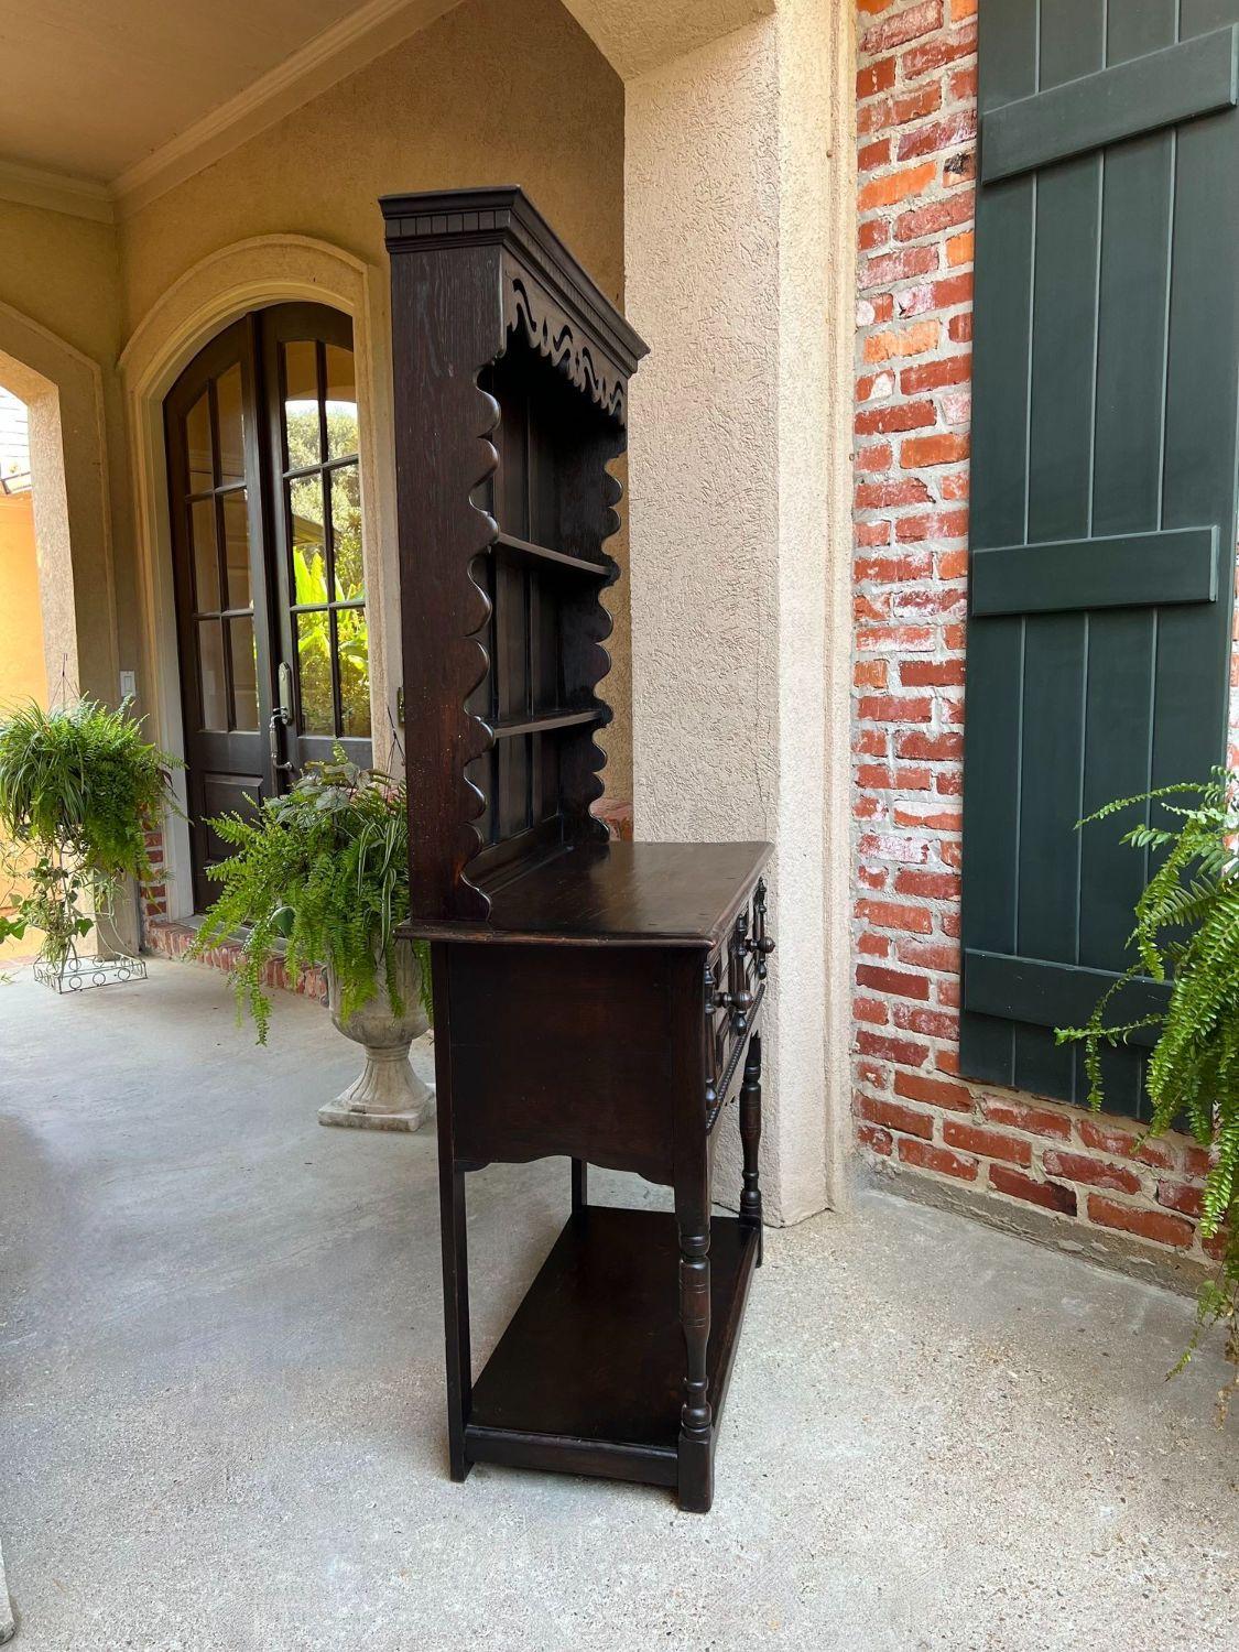
{"type": "Polygon", "coordinates": [[[433,957],[448,1464],[671,1487],[705,1512],[762,1256],[770,844],[611,844],[606,540],[644,345],[519,190],[383,202],[411,919],[433,957]],[[738,1219],[710,1216],[738,1102],[738,1219]],[[468,1175],[572,1161],[572,1214],[474,1381],[468,1175]],[[674,1214],[590,1204],[588,1166],[674,1214]]]}

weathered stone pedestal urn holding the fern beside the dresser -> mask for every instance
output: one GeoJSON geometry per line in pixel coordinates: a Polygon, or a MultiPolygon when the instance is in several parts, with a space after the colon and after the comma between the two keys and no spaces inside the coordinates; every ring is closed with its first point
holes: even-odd
{"type": "Polygon", "coordinates": [[[418,1130],[434,1115],[434,1090],[410,1062],[410,1046],[430,1023],[421,1008],[421,970],[408,942],[396,942],[396,981],[405,1013],[398,1016],[387,995],[380,961],[378,986],[350,1016],[340,1014],[335,973],[327,966],[327,1006],[335,1026],[365,1051],[365,1067],[349,1089],[319,1108],[320,1125],[362,1130],[418,1130]]]}

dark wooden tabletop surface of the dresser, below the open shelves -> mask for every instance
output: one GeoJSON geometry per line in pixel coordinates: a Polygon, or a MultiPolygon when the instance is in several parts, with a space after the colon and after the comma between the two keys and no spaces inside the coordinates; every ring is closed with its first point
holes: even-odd
{"type": "Polygon", "coordinates": [[[487,887],[487,922],[413,919],[425,940],[715,947],[771,854],[768,843],[567,847],[487,887]]]}

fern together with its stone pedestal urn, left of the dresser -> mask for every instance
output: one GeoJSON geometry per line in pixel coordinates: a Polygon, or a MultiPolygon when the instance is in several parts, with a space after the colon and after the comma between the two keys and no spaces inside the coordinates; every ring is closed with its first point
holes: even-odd
{"type": "Polygon", "coordinates": [[[403,783],[347,762],[311,763],[286,796],[249,816],[211,823],[233,854],[213,866],[221,885],[190,950],[200,957],[238,933],[238,1013],[266,1042],[268,965],[279,953],[291,980],[327,971],[332,1021],[365,1051],[360,1077],[319,1110],[322,1123],[416,1130],[433,1108],[410,1066],[430,1024],[428,953],[398,937],[408,919],[408,796],[403,783]]]}

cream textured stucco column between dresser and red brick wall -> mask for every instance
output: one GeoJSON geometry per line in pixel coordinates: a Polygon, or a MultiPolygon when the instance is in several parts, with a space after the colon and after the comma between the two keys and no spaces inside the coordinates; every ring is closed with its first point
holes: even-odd
{"type": "Polygon", "coordinates": [[[626,83],[636,836],[775,843],[785,1222],[846,1189],[851,21],[780,0],[626,83]]]}

